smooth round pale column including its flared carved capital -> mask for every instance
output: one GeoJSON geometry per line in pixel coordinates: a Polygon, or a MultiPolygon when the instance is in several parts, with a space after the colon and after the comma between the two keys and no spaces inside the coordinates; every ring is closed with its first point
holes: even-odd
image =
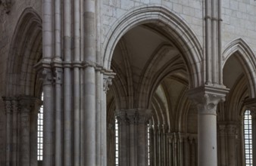
{"type": "Polygon", "coordinates": [[[198,108],[198,166],[217,166],[216,109],[228,91],[204,85],[189,91],[198,108]]]}

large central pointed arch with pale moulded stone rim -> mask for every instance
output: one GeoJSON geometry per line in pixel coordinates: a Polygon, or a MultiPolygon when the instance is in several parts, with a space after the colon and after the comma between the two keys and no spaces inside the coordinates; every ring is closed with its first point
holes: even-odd
{"type": "Polygon", "coordinates": [[[188,67],[190,88],[201,85],[201,44],[184,20],[171,13],[167,8],[159,6],[136,8],[114,23],[103,45],[104,67],[110,68],[114,48],[120,38],[133,27],[143,23],[157,23],[161,29],[167,32],[166,35],[176,41],[176,47],[180,49],[188,67]]]}

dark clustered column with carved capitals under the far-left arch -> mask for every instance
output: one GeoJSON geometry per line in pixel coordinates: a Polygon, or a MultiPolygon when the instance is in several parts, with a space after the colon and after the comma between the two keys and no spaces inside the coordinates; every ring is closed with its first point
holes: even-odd
{"type": "Polygon", "coordinates": [[[3,97],[7,114],[6,165],[37,165],[37,115],[42,102],[36,97],[3,97]]]}

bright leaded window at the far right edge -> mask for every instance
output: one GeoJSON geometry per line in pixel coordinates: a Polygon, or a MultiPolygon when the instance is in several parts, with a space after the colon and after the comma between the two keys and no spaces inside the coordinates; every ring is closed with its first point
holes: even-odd
{"type": "Polygon", "coordinates": [[[251,111],[246,110],[244,114],[244,136],[245,136],[245,166],[252,166],[252,134],[251,134],[251,111]]]}

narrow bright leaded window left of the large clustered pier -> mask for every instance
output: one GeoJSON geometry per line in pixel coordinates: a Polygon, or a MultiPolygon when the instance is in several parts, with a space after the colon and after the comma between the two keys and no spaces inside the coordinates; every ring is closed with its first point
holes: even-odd
{"type": "MultiPolygon", "coordinates": [[[[43,94],[41,97],[43,100],[43,94]]],[[[42,132],[43,132],[43,105],[39,109],[38,119],[37,119],[37,160],[42,161],[42,132]]]]}

